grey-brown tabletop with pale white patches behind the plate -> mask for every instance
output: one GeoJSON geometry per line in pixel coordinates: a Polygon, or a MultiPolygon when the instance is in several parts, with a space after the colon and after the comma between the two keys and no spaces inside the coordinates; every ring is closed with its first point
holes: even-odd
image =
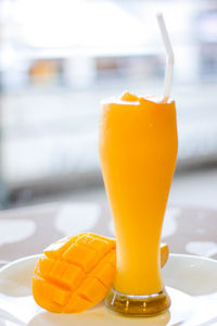
{"type": "MultiPolygon", "coordinates": [[[[51,242],[81,231],[114,236],[107,204],[61,202],[0,212],[0,265],[41,253],[51,242]]],[[[162,241],[170,252],[217,259],[217,211],[168,206],[162,241]]]]}

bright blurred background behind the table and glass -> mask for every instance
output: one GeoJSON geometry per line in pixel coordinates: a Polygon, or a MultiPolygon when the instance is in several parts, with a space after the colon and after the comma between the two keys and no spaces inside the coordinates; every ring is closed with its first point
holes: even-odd
{"type": "Polygon", "coordinates": [[[179,154],[169,201],[217,208],[216,0],[0,0],[1,208],[104,201],[100,101],[162,95],[175,51],[179,154]]]}

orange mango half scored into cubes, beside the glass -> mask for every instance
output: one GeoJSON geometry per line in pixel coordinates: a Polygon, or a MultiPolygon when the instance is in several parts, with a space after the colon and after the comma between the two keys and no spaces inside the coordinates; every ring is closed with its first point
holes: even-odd
{"type": "MultiPolygon", "coordinates": [[[[161,246],[161,265],[168,259],[161,246]]],[[[35,267],[33,296],[43,309],[77,313],[99,303],[112,286],[116,268],[116,242],[94,234],[63,238],[43,250],[35,267]]]]}

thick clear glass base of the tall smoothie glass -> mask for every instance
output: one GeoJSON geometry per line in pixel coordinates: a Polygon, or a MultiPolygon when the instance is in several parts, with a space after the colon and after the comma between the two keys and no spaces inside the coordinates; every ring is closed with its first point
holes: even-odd
{"type": "Polygon", "coordinates": [[[112,288],[105,298],[105,304],[114,312],[131,316],[154,316],[170,306],[166,290],[150,296],[123,294],[112,288]]]}

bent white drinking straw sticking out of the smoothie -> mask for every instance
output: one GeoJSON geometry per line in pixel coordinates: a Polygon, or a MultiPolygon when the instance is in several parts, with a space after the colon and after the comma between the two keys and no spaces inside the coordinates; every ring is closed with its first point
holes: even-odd
{"type": "Polygon", "coordinates": [[[159,25],[162,38],[167,54],[166,72],[165,72],[165,79],[164,79],[164,99],[168,99],[170,96],[171,77],[174,72],[174,51],[165,26],[163,14],[162,13],[157,14],[156,18],[159,25]]]}

